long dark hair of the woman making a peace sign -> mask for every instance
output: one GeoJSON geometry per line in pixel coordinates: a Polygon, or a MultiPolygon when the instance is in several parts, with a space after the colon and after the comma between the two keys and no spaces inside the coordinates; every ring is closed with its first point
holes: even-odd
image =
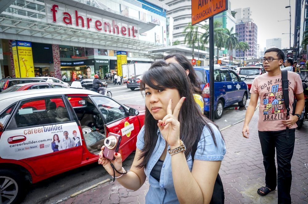
{"type": "MultiPolygon", "coordinates": [[[[196,141],[201,138],[202,130],[206,126],[212,134],[216,144],[213,129],[208,124],[211,122],[206,118],[198,108],[197,103],[193,98],[192,85],[189,82],[185,70],[176,63],[166,63],[164,60],[153,62],[150,69],[144,72],[141,81],[141,89],[144,90],[145,84],[153,89],[177,89],[180,97],[186,97],[179,113],[180,122],[180,139],[186,146],[185,156],[189,157],[196,141]]],[[[140,157],[142,162],[138,168],[146,167],[147,163],[156,146],[158,135],[157,120],[155,120],[146,108],[144,118],[144,147],[141,150],[140,157]]],[[[194,147],[197,148],[197,147],[194,147]]],[[[194,149],[196,151],[196,149],[194,149]]]]}

